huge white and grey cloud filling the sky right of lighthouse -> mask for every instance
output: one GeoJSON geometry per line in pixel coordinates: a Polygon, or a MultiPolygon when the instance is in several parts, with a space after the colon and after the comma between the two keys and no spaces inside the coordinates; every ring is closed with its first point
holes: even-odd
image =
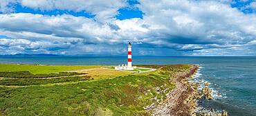
{"type": "Polygon", "coordinates": [[[145,13],[143,20],[150,25],[149,35],[157,35],[158,39],[152,41],[157,40],[166,47],[223,50],[255,40],[255,15],[244,14],[225,3],[140,1],[138,7],[145,13]]]}

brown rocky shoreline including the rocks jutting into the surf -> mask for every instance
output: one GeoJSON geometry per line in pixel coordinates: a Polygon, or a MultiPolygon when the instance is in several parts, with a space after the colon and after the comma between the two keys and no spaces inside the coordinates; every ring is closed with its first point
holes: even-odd
{"type": "Polygon", "coordinates": [[[166,99],[154,106],[152,115],[172,115],[172,116],[227,116],[228,112],[216,112],[204,108],[197,108],[197,100],[212,100],[212,90],[208,88],[209,83],[204,83],[203,89],[199,89],[199,84],[190,82],[192,76],[198,71],[199,65],[192,65],[190,70],[177,73],[170,77],[171,81],[176,84],[176,88],[167,93],[166,99]]]}

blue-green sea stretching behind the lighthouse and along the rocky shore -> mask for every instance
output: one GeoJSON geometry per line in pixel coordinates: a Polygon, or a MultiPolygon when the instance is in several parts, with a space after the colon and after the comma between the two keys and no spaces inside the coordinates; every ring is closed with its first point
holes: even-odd
{"type": "MultiPolygon", "coordinates": [[[[200,65],[197,78],[210,83],[214,100],[199,106],[231,116],[256,116],[256,57],[136,57],[133,65],[200,65]],[[217,95],[218,94],[218,95],[217,95]]],[[[0,57],[0,63],[37,65],[120,65],[127,57],[0,57]]]]}

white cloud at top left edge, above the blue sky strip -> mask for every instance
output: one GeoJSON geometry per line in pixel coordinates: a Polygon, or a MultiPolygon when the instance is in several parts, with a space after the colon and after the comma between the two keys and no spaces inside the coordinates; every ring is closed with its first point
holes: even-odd
{"type": "Polygon", "coordinates": [[[68,10],[95,14],[98,21],[107,21],[125,7],[124,0],[21,0],[21,5],[39,10],[68,10]]]}

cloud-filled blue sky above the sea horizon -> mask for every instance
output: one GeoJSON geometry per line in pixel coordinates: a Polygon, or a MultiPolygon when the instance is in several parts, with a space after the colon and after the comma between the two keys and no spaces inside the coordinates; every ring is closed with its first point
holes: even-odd
{"type": "Polygon", "coordinates": [[[0,0],[0,54],[256,56],[256,0],[0,0]]]}

